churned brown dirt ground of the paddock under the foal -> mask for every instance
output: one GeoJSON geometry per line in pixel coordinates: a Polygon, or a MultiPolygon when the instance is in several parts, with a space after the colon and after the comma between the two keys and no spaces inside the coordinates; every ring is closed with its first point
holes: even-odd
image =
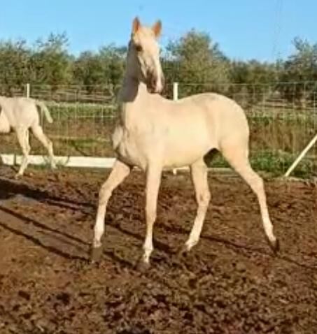
{"type": "Polygon", "coordinates": [[[202,239],[174,250],[195,217],[188,173],[164,174],[155,252],[134,268],[145,233],[143,175],[114,191],[104,254],[88,263],[105,171],[0,171],[0,333],[316,333],[317,189],[266,182],[281,239],[273,256],[258,203],[238,177],[209,176],[202,239]]]}

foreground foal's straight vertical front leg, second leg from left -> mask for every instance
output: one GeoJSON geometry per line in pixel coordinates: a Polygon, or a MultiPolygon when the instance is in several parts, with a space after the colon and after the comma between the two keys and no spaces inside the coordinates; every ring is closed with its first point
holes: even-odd
{"type": "Polygon", "coordinates": [[[162,176],[161,166],[148,166],[146,170],[146,239],[143,244],[143,256],[139,266],[150,264],[150,254],[153,252],[153,225],[156,219],[157,196],[162,176]]]}

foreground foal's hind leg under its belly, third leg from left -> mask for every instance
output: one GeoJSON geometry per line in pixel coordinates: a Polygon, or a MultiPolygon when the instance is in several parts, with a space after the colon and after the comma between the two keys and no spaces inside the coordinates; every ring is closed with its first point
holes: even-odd
{"type": "Polygon", "coordinates": [[[190,236],[185,242],[186,250],[190,250],[199,241],[200,233],[202,233],[202,226],[204,224],[204,219],[206,217],[206,212],[210,202],[210,191],[207,180],[207,166],[204,160],[196,161],[195,164],[190,166],[192,183],[195,187],[196,201],[197,201],[197,214],[195,217],[194,225],[192,226],[192,231],[190,231],[190,236]]]}

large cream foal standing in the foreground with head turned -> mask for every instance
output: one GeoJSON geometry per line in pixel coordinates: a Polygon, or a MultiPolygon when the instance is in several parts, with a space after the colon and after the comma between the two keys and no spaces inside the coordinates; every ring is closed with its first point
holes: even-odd
{"type": "Polygon", "coordinates": [[[161,29],[160,21],[151,28],[144,27],[137,17],[132,24],[127,69],[119,95],[120,120],[113,133],[118,158],[99,192],[92,261],[101,254],[108,199],[133,166],[146,172],[143,263],[149,263],[153,251],[153,224],[163,168],[190,166],[198,208],[185,249],[196,245],[211,198],[203,159],[211,149],[222,152],[258,196],[265,233],[277,251],[279,242],[269,219],[263,181],[248,161],[249,129],[244,110],[219,94],[197,94],[178,101],[160,96],[164,77],[157,37],[161,29]]]}

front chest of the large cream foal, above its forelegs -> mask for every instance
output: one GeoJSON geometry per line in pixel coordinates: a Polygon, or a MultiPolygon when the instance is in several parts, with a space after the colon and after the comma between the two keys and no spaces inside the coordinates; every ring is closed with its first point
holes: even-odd
{"type": "Polygon", "coordinates": [[[134,131],[117,126],[112,136],[113,150],[122,161],[132,166],[145,166],[145,159],[134,131]]]}

